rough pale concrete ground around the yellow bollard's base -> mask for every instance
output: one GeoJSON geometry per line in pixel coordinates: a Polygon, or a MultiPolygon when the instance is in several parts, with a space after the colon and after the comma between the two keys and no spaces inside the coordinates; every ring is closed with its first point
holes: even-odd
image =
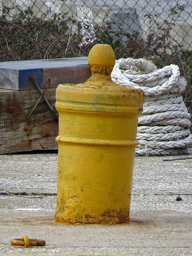
{"type": "Polygon", "coordinates": [[[163,161],[176,157],[135,158],[130,224],[64,225],[57,152],[0,155],[0,255],[192,256],[192,159],[163,161]],[[24,234],[46,245],[10,244],[24,234]]]}

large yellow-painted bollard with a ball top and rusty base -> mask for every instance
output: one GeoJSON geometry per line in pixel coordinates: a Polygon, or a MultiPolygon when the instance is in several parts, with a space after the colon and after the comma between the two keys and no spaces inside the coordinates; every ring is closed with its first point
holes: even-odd
{"type": "Polygon", "coordinates": [[[60,84],[56,222],[129,222],[142,90],[112,82],[115,54],[95,45],[83,84],[60,84]]]}

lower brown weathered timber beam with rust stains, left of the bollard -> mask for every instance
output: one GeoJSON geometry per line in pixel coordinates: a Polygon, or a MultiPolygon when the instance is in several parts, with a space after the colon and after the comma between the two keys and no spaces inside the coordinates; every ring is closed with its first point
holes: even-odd
{"type": "MultiPolygon", "coordinates": [[[[47,89],[44,95],[58,114],[55,91],[47,89]]],[[[38,90],[0,89],[0,154],[58,148],[58,121],[43,98],[27,118],[39,98],[38,90]]]]}

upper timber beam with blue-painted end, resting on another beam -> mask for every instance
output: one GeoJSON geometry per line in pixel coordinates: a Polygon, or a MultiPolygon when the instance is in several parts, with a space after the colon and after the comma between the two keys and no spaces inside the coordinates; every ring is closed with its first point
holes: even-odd
{"type": "Polygon", "coordinates": [[[56,88],[58,84],[78,84],[91,76],[88,58],[62,58],[0,62],[0,88],[8,90],[36,89],[32,76],[40,88],[56,88]]]}

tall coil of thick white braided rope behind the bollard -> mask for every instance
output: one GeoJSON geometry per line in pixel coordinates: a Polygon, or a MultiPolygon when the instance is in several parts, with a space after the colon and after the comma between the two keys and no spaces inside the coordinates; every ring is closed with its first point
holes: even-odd
{"type": "Polygon", "coordinates": [[[157,69],[144,59],[119,59],[111,74],[116,84],[145,93],[138,119],[136,156],[189,154],[192,146],[190,114],[180,95],[186,82],[177,65],[157,69]]]}

